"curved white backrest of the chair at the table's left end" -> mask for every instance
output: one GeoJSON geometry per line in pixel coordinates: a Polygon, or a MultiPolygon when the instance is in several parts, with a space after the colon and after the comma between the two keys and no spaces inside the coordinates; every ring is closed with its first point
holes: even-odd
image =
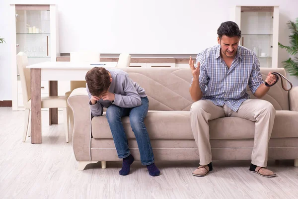
{"type": "Polygon", "coordinates": [[[31,99],[31,83],[30,83],[30,69],[27,69],[28,58],[24,52],[19,52],[16,55],[16,65],[19,71],[21,85],[22,85],[22,95],[24,106],[31,99]]]}

